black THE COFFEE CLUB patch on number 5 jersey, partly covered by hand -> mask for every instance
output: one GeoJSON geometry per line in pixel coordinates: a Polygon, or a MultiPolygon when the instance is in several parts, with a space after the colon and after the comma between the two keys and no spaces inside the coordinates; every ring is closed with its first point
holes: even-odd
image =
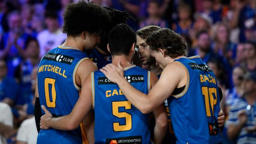
{"type": "MultiPolygon", "coordinates": [[[[130,75],[130,76],[125,76],[124,78],[126,78],[129,83],[144,82],[143,75],[130,75]]],[[[107,77],[98,78],[98,85],[108,85],[108,84],[115,84],[115,83],[112,83],[111,81],[109,81],[107,77]]]]}

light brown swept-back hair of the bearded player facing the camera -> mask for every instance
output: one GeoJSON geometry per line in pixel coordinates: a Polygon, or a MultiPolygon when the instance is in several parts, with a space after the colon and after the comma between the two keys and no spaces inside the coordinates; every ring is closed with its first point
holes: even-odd
{"type": "Polygon", "coordinates": [[[142,39],[147,39],[148,35],[150,35],[153,31],[160,30],[159,26],[145,26],[136,31],[136,34],[142,39]]]}

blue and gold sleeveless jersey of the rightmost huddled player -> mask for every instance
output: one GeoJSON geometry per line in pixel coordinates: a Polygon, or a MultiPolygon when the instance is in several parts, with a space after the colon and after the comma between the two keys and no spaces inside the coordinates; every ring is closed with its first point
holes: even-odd
{"type": "Polygon", "coordinates": [[[167,100],[177,144],[219,144],[217,79],[199,56],[174,60],[187,72],[182,92],[167,100]]]}

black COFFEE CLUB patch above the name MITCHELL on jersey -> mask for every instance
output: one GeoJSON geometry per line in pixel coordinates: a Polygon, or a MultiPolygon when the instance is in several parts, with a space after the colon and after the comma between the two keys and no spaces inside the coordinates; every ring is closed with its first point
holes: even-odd
{"type": "Polygon", "coordinates": [[[43,59],[71,65],[74,60],[74,57],[48,52],[44,55],[43,59]]]}

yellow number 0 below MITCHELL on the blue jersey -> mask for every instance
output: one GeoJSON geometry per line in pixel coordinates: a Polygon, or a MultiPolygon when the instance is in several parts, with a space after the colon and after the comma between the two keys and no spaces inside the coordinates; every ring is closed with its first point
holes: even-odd
{"type": "Polygon", "coordinates": [[[45,100],[47,107],[55,107],[56,106],[56,90],[55,90],[55,79],[45,78],[45,100]],[[52,85],[52,102],[50,101],[50,90],[49,85],[52,85]]]}

